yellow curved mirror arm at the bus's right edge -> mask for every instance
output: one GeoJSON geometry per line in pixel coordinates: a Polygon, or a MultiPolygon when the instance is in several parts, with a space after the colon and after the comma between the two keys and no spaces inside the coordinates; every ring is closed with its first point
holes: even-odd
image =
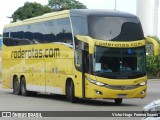
{"type": "Polygon", "coordinates": [[[145,39],[147,40],[147,42],[153,44],[153,53],[155,56],[157,56],[159,54],[159,43],[150,37],[146,37],[145,39]]]}

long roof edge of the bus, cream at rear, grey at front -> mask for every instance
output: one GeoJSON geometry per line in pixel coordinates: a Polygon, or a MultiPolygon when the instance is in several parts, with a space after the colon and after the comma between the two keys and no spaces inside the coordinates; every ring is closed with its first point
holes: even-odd
{"type": "Polygon", "coordinates": [[[20,26],[20,25],[25,25],[25,24],[31,24],[31,23],[35,23],[35,22],[42,22],[42,21],[46,21],[46,20],[69,17],[70,13],[71,14],[80,14],[80,15],[84,15],[84,16],[97,15],[97,16],[108,16],[108,17],[136,17],[133,14],[115,11],[115,10],[72,9],[72,10],[63,10],[63,11],[58,11],[58,12],[46,13],[46,14],[38,16],[38,17],[10,23],[10,24],[5,25],[4,28],[10,28],[10,27],[20,26]]]}

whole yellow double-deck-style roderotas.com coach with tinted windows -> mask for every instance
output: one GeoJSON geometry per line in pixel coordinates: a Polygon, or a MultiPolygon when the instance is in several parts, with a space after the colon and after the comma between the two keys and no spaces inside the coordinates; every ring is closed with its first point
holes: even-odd
{"type": "Polygon", "coordinates": [[[10,23],[3,30],[3,88],[66,95],[70,102],[144,98],[146,39],[157,54],[139,19],[118,11],[65,10],[10,23]]]}

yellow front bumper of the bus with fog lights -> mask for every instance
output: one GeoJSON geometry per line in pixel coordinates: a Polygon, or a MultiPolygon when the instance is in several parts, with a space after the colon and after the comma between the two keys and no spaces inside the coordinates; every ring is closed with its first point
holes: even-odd
{"type": "MultiPolygon", "coordinates": [[[[90,84],[91,85],[91,84],[90,84]]],[[[86,98],[93,99],[116,99],[116,98],[144,98],[146,96],[147,85],[140,86],[134,89],[125,90],[125,87],[121,90],[110,89],[106,87],[100,87],[92,84],[90,87],[86,87],[86,98]]]]}

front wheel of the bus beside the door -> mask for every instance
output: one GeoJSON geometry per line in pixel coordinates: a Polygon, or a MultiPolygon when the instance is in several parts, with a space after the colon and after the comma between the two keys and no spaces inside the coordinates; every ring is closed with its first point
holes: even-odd
{"type": "Polygon", "coordinates": [[[76,97],[74,96],[74,83],[73,81],[67,83],[67,100],[71,103],[76,102],[76,97]]]}

